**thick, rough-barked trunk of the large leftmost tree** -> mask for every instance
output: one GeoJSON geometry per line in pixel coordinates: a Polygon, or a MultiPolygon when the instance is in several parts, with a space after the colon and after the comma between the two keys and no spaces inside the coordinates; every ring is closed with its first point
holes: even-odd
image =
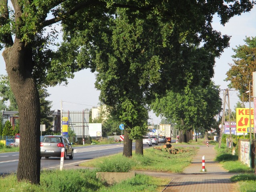
{"type": "Polygon", "coordinates": [[[18,39],[2,54],[16,98],[20,119],[20,155],[17,178],[40,183],[40,100],[32,76],[32,55],[18,39]]]}

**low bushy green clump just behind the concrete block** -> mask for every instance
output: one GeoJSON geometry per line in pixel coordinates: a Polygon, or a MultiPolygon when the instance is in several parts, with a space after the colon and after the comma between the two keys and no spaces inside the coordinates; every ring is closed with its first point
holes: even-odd
{"type": "Polygon", "coordinates": [[[129,172],[134,166],[132,163],[130,158],[123,157],[112,161],[103,160],[97,167],[99,172],[129,172]]]}

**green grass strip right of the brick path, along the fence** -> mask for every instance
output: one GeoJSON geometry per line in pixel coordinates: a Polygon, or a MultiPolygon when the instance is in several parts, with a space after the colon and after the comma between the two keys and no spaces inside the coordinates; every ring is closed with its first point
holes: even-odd
{"type": "Polygon", "coordinates": [[[221,148],[216,145],[218,152],[216,161],[220,162],[223,168],[229,172],[239,173],[231,178],[232,182],[237,182],[239,192],[255,192],[256,189],[256,175],[254,170],[238,161],[237,150],[235,155],[232,155],[232,149],[227,148],[222,143],[221,148]]]}

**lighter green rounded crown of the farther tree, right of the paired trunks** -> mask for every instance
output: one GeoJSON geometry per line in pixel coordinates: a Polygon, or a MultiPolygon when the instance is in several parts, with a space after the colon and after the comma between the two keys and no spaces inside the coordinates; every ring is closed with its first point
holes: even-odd
{"type": "Polygon", "coordinates": [[[156,99],[152,110],[174,120],[181,130],[210,130],[215,122],[214,116],[221,110],[219,93],[218,86],[212,82],[206,87],[187,86],[181,92],[168,91],[165,97],[156,99]]]}

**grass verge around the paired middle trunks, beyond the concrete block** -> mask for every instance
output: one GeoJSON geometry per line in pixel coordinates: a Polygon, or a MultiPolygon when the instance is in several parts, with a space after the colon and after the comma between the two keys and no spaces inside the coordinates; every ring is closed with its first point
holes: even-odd
{"type": "Polygon", "coordinates": [[[166,150],[161,151],[154,148],[147,148],[144,150],[144,156],[136,155],[135,152],[133,152],[134,155],[131,158],[127,158],[122,156],[122,153],[120,153],[108,157],[102,157],[86,161],[80,164],[80,166],[99,168],[104,167],[104,170],[109,168],[107,172],[112,172],[112,167],[119,168],[123,165],[124,167],[130,166],[130,170],[148,170],[178,173],[182,172],[184,168],[190,164],[190,162],[192,161],[192,157],[194,156],[194,154],[196,154],[196,151],[198,149],[190,147],[176,148],[179,150],[183,150],[184,152],[179,154],[170,154],[170,152],[167,152],[166,150]],[[124,162],[126,162],[126,164],[124,162]]]}

